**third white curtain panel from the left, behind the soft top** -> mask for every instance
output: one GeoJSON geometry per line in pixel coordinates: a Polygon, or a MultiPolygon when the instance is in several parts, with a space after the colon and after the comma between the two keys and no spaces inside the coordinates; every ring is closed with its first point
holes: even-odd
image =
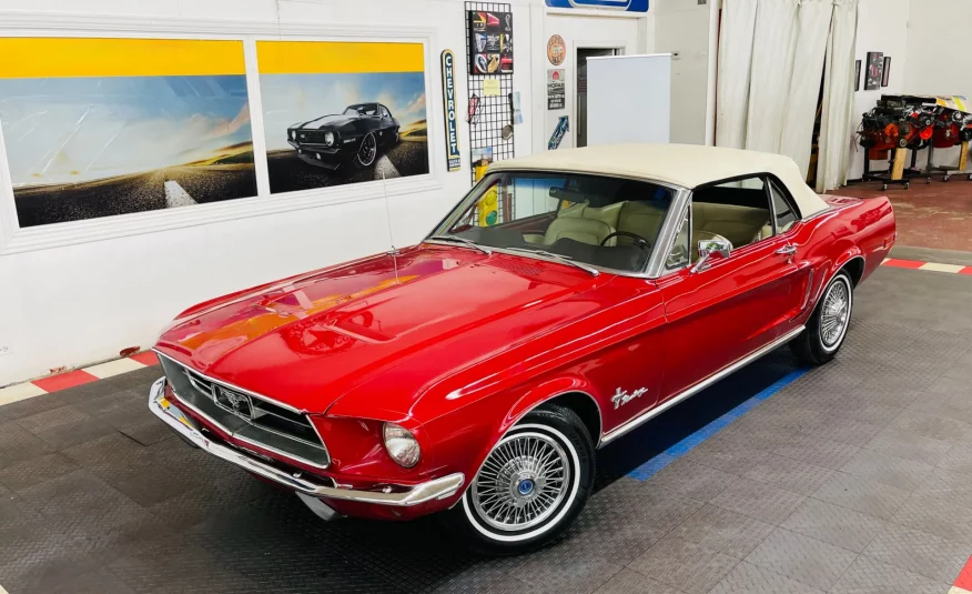
{"type": "Polygon", "coordinates": [[[790,78],[788,109],[782,122],[779,152],[797,161],[804,180],[810,167],[817,101],[820,98],[832,12],[832,0],[801,0],[793,73],[790,78]]]}

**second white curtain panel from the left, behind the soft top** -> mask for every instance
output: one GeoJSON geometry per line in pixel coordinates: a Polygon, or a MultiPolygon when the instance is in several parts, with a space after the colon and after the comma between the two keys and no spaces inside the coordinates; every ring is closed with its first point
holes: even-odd
{"type": "MultiPolygon", "coordinates": [[[[746,148],[780,152],[797,48],[797,0],[759,0],[752,40],[746,148]]],[[[819,79],[818,79],[819,80],[819,79]]]]}

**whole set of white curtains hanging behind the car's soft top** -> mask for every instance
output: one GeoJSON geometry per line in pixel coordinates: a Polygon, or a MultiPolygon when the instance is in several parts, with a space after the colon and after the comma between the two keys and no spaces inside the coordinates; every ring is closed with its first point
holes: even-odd
{"type": "MultiPolygon", "coordinates": [[[[829,138],[850,125],[853,88],[843,81],[847,75],[846,80],[852,82],[857,19],[850,24],[851,38],[847,40],[844,12],[853,3],[855,14],[857,1],[723,0],[717,145],[789,155],[806,177],[821,75],[823,113],[830,115],[827,122],[832,125],[829,138]],[[831,81],[833,75],[840,77],[840,84],[831,81]],[[847,117],[839,117],[844,111],[847,117]]],[[[847,135],[850,133],[848,128],[847,135]]],[[[823,150],[821,138],[821,157],[823,150]]],[[[834,167],[846,157],[828,155],[834,167]]]]}

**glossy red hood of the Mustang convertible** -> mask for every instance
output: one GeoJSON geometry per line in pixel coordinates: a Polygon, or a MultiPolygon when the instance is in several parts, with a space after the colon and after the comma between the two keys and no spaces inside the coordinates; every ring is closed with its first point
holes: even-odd
{"type": "MultiPolygon", "coordinates": [[[[402,380],[393,385],[419,391],[508,351],[589,311],[569,298],[607,278],[423,244],[190,310],[156,349],[216,380],[324,413],[378,376],[382,385],[391,375],[402,380]]],[[[366,401],[375,411],[407,414],[402,409],[413,396],[379,391],[366,401]]]]}

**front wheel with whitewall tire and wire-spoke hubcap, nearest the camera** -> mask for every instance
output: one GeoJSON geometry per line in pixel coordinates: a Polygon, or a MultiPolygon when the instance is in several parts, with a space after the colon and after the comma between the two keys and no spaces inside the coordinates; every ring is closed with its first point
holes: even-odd
{"type": "Polygon", "coordinates": [[[561,536],[594,486],[594,442],[570,409],[528,413],[489,452],[446,520],[480,553],[512,555],[561,536]]]}

